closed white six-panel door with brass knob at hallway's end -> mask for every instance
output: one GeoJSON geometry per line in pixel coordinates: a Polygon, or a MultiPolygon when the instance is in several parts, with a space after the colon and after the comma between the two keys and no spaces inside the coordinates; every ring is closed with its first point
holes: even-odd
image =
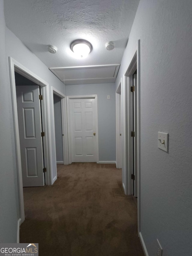
{"type": "Polygon", "coordinates": [[[70,99],[72,162],[97,161],[96,118],[95,98],[70,99]]]}

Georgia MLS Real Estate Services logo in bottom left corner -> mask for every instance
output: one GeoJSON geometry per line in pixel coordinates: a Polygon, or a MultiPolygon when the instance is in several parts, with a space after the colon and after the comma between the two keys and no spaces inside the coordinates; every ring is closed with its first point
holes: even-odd
{"type": "Polygon", "coordinates": [[[0,256],[38,256],[38,243],[1,243],[0,256]]]}

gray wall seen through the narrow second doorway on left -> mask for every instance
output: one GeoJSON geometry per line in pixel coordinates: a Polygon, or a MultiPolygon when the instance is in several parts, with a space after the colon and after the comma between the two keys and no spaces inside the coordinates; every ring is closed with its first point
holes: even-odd
{"type": "Polygon", "coordinates": [[[61,98],[53,94],[55,116],[55,144],[57,161],[63,161],[63,137],[61,123],[61,98]]]}

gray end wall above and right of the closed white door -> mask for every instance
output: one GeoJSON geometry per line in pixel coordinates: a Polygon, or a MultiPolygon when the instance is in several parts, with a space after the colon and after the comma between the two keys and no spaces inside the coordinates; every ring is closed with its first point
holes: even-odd
{"type": "Polygon", "coordinates": [[[67,85],[65,93],[67,96],[98,95],[99,161],[116,161],[115,84],[67,85]]]}

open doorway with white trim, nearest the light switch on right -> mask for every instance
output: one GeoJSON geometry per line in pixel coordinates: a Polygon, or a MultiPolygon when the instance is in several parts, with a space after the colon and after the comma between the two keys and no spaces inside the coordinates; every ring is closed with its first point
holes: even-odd
{"type": "Polygon", "coordinates": [[[137,197],[138,234],[140,233],[140,40],[128,62],[128,68],[123,76],[122,123],[125,134],[124,168],[125,193],[137,197]],[[125,112],[125,113],[124,113],[125,112]]]}

